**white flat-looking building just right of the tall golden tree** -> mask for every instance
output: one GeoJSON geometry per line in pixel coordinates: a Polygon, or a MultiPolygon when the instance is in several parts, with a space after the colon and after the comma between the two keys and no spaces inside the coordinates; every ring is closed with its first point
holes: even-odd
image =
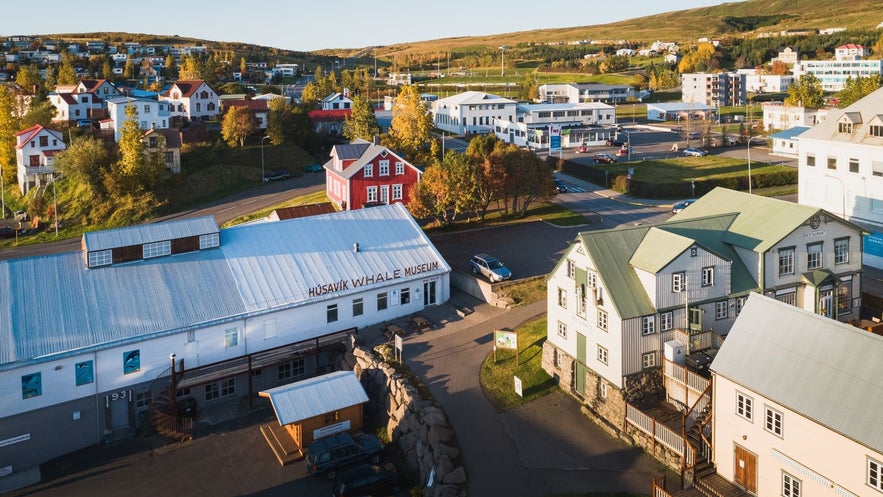
{"type": "Polygon", "coordinates": [[[431,103],[435,126],[455,135],[491,133],[494,119],[515,121],[515,100],[466,91],[431,103]]]}

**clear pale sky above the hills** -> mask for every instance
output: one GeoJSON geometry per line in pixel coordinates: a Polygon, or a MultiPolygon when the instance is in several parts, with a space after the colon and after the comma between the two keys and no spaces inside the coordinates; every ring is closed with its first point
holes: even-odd
{"type": "MultiPolygon", "coordinates": [[[[455,36],[606,24],[720,5],[721,0],[151,0],[88,3],[41,0],[3,9],[0,36],[123,31],[239,41],[289,50],[363,48],[455,36]],[[305,5],[309,2],[308,5],[305,5]]],[[[624,38],[627,37],[624,33],[624,38]]]]}

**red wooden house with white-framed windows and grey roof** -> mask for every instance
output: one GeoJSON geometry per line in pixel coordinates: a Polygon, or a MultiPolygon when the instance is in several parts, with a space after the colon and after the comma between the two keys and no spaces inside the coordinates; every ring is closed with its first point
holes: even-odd
{"type": "Polygon", "coordinates": [[[388,148],[364,140],[335,145],[325,171],[325,192],[341,210],[407,204],[423,174],[388,148]]]}

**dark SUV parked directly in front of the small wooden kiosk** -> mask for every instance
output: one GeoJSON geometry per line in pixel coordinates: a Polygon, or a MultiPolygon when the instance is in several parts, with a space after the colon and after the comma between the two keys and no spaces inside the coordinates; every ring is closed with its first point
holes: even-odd
{"type": "Polygon", "coordinates": [[[329,480],[337,477],[341,469],[364,461],[380,462],[383,442],[373,435],[350,435],[337,433],[315,440],[307,448],[307,471],[311,475],[324,474],[329,480]]]}

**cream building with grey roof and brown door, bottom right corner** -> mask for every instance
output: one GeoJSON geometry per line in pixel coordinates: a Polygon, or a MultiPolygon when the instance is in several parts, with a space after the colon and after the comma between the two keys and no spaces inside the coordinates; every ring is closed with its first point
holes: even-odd
{"type": "Polygon", "coordinates": [[[752,294],[711,363],[717,473],[758,495],[883,492],[883,337],[752,294]]]}

